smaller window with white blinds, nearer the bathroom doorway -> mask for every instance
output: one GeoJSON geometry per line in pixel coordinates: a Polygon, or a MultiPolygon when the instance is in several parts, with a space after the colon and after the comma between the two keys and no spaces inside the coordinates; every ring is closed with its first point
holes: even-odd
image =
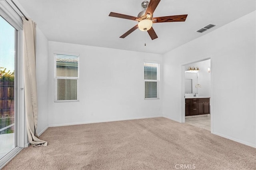
{"type": "Polygon", "coordinates": [[[144,62],[145,99],[159,99],[160,64],[144,62]]]}

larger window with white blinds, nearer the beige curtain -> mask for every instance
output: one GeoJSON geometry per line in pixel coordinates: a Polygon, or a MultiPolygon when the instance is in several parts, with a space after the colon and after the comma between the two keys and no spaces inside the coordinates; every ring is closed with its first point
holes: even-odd
{"type": "Polygon", "coordinates": [[[54,101],[79,101],[79,56],[55,54],[54,101]]]}

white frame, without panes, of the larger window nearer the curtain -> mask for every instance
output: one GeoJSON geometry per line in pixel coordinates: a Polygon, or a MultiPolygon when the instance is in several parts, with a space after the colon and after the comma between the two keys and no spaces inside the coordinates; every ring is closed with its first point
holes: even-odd
{"type": "Polygon", "coordinates": [[[79,70],[80,70],[80,54],[79,53],[67,53],[67,52],[54,52],[54,102],[79,102],[79,70]],[[70,55],[70,56],[76,56],[78,57],[78,77],[61,77],[56,76],[57,71],[57,62],[56,62],[56,56],[57,55],[70,55]],[[77,80],[76,82],[76,100],[58,100],[58,79],[72,79],[77,80]]]}

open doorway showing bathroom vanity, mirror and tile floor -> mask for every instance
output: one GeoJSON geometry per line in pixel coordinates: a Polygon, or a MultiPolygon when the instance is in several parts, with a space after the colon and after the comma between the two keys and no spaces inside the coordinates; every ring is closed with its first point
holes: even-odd
{"type": "Polygon", "coordinates": [[[211,61],[184,65],[185,123],[211,130],[211,61]]]}

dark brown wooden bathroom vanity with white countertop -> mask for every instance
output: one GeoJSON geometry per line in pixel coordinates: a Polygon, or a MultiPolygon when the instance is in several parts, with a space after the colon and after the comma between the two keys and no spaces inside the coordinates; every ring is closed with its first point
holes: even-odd
{"type": "Polygon", "coordinates": [[[185,97],[185,116],[210,114],[210,97],[185,97]]]}

